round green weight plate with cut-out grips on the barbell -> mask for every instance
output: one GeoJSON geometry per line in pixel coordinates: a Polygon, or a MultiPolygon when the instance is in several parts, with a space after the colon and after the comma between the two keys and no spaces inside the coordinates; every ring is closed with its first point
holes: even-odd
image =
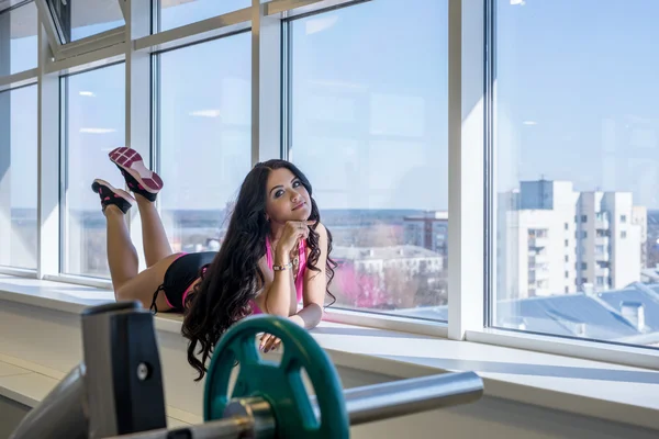
{"type": "Polygon", "coordinates": [[[230,328],[215,347],[205,382],[204,419],[221,419],[231,397],[245,396],[260,396],[270,403],[278,438],[349,438],[350,423],[334,364],[305,329],[286,318],[247,317],[230,328]],[[260,358],[255,340],[259,333],[281,339],[280,364],[260,358]],[[233,394],[227,395],[236,360],[241,371],[233,394]],[[302,381],[302,368],[316,391],[320,421],[302,381]]]}

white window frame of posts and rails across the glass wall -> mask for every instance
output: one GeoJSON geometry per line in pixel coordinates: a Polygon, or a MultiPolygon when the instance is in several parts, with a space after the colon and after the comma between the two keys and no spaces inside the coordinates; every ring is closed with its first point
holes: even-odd
{"type": "MultiPolygon", "coordinates": [[[[0,89],[38,85],[38,204],[37,270],[23,272],[0,268],[0,273],[110,289],[109,280],[60,274],[59,260],[59,77],[125,60],[126,145],[135,145],[148,165],[157,164],[158,151],[152,113],[157,105],[153,75],[158,68],[153,53],[244,32],[253,33],[252,161],[273,156],[287,157],[290,114],[283,111],[290,92],[287,69],[290,60],[287,26],[282,23],[302,14],[349,7],[365,0],[253,0],[252,7],[152,34],[152,0],[116,0],[125,26],[62,47],[54,33],[53,18],[45,0],[38,8],[38,67],[0,78],[0,89]],[[282,37],[284,40],[282,40],[282,37]],[[276,114],[278,116],[272,117],[276,114]],[[55,212],[55,213],[54,213],[55,212]]],[[[492,328],[492,293],[496,284],[493,263],[496,256],[495,181],[493,144],[495,117],[494,81],[495,0],[446,0],[448,8],[448,324],[406,317],[375,315],[330,308],[326,319],[344,324],[447,337],[454,340],[492,344],[619,364],[659,369],[659,350],[608,341],[566,339],[492,328]],[[487,54],[487,55],[485,55],[487,54]],[[465,158],[465,159],[463,159],[465,158]],[[467,159],[468,158],[468,159],[467,159]],[[481,182],[484,182],[483,185],[481,182]],[[487,188],[487,189],[484,189],[487,188]],[[473,233],[473,230],[479,230],[473,233]],[[485,257],[484,257],[485,256],[485,257]]],[[[403,5],[405,7],[405,5],[403,5]]],[[[134,216],[131,235],[142,239],[134,216]]],[[[566,240],[570,244],[571,240],[566,240]]],[[[633,341],[633,340],[632,340],[633,341]]]]}

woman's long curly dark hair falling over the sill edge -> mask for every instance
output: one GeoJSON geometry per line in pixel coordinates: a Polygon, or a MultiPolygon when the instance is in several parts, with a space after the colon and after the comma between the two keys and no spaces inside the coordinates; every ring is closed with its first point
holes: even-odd
{"type": "MultiPolygon", "coordinates": [[[[275,169],[287,168],[302,183],[311,198],[311,216],[315,221],[306,239],[310,249],[306,268],[321,271],[315,264],[321,256],[320,235],[315,227],[321,222],[319,207],[312,195],[311,183],[294,165],[286,160],[268,160],[257,164],[245,178],[231,215],[226,236],[213,261],[201,270],[193,294],[187,300],[187,312],[181,333],[188,338],[188,362],[199,372],[200,381],[206,372],[205,363],[215,344],[231,325],[252,314],[249,301],[265,283],[259,260],[266,254],[266,238],[270,223],[266,219],[267,181],[275,169]],[[201,354],[201,359],[197,356],[201,354]]],[[[332,234],[327,230],[327,294],[336,262],[330,258],[332,234]]]]}

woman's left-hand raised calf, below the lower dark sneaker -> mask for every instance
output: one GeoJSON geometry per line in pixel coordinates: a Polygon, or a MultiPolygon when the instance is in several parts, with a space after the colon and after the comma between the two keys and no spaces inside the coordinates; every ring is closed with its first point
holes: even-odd
{"type": "Polygon", "coordinates": [[[108,224],[108,264],[110,266],[112,286],[116,292],[137,275],[137,251],[131,241],[124,213],[112,204],[108,205],[103,213],[108,224]]]}

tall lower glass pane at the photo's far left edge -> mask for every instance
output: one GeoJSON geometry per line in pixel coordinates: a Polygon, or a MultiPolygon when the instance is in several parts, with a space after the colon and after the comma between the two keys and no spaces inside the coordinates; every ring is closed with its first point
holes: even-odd
{"type": "Polygon", "coordinates": [[[36,86],[0,93],[0,266],[36,269],[36,86]]]}

